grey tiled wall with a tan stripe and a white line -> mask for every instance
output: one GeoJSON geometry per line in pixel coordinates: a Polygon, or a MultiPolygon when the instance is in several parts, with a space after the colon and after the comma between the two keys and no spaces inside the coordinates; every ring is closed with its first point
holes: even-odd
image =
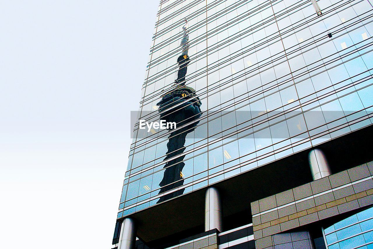
{"type": "Polygon", "coordinates": [[[373,204],[373,162],[251,203],[256,248],[272,235],[373,204]]]}

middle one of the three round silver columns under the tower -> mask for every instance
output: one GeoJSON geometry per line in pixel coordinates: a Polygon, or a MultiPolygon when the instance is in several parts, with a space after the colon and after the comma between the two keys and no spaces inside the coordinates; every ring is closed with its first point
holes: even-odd
{"type": "Polygon", "coordinates": [[[205,231],[216,228],[223,231],[222,205],[220,202],[219,191],[210,187],[206,190],[205,199],[205,231]]]}

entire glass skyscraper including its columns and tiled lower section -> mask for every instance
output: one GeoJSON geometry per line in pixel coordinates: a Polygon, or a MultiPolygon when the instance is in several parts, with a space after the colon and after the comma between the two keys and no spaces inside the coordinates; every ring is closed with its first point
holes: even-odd
{"type": "Polygon", "coordinates": [[[372,3],[161,0],[114,248],[373,246],[372,3]]]}

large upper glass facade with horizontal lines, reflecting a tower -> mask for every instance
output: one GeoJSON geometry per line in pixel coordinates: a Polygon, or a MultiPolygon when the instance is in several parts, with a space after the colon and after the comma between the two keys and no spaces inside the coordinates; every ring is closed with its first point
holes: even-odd
{"type": "Polygon", "coordinates": [[[163,0],[118,218],[372,124],[369,0],[163,0]],[[320,11],[317,11],[320,9],[320,11]]]}

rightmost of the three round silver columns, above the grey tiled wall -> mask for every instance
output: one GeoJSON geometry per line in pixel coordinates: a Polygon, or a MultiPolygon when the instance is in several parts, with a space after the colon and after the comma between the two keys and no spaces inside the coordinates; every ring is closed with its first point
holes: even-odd
{"type": "Polygon", "coordinates": [[[314,181],[332,174],[325,154],[322,150],[311,150],[310,154],[308,154],[308,162],[310,163],[311,173],[314,181]]]}

